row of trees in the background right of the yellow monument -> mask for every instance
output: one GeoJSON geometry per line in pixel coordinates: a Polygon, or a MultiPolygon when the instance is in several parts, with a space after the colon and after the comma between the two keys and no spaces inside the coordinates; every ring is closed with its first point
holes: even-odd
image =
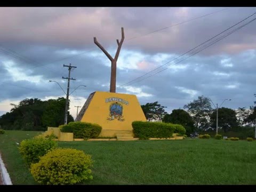
{"type": "MultiPolygon", "coordinates": [[[[254,103],[256,104],[256,101],[254,103]]],[[[216,130],[216,110],[211,107],[210,99],[203,95],[183,106],[183,109],[172,110],[171,114],[167,114],[166,107],[158,101],[146,103],[141,108],[147,121],[181,124],[188,134],[195,131],[216,130]]],[[[243,127],[253,127],[255,117],[256,105],[250,106],[247,110],[245,107],[237,110],[221,107],[218,109],[218,128],[223,132],[241,131],[243,127]]]]}

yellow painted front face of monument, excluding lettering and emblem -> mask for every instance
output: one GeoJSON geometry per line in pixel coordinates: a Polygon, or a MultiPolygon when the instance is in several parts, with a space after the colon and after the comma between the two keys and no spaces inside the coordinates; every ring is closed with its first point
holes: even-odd
{"type": "MultiPolygon", "coordinates": [[[[111,130],[130,130],[132,131],[133,121],[146,121],[146,117],[141,109],[140,103],[136,95],[122,94],[122,93],[109,93],[96,91],[90,105],[85,111],[81,122],[97,123],[102,126],[102,133],[105,137],[108,136],[108,132],[111,133],[109,137],[113,136],[113,131],[111,130]],[[121,101],[109,101],[106,102],[108,98],[121,98],[128,101],[128,105],[121,101]],[[109,118],[109,107],[112,103],[119,103],[123,106],[123,118],[124,121],[118,121],[117,119],[108,120],[109,118]],[[109,131],[107,131],[109,130],[109,131]]],[[[102,137],[102,135],[100,135],[102,137]]]]}

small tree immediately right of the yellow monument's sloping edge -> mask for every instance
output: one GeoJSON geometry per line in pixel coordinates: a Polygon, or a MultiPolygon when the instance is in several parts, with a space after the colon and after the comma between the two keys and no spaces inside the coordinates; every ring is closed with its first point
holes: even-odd
{"type": "Polygon", "coordinates": [[[141,106],[147,121],[162,121],[163,117],[167,112],[164,110],[164,106],[158,103],[158,101],[153,103],[146,103],[146,105],[141,106]]]}

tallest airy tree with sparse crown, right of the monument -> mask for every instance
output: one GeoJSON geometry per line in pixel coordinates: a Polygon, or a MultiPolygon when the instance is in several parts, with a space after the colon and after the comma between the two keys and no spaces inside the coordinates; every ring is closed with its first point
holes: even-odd
{"type": "Polygon", "coordinates": [[[204,97],[204,95],[199,96],[198,99],[185,105],[184,109],[187,109],[188,113],[194,119],[195,126],[197,129],[201,129],[201,130],[209,129],[209,126],[210,126],[209,116],[212,111],[209,98],[204,97]]]}

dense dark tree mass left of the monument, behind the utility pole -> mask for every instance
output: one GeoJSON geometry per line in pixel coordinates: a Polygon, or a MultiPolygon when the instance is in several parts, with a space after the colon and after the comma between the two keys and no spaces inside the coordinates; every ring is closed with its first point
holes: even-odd
{"type": "MultiPolygon", "coordinates": [[[[10,112],[0,117],[1,129],[5,130],[31,130],[44,131],[48,126],[58,127],[64,124],[65,98],[49,99],[24,99],[13,106],[10,112]]],[[[74,118],[68,114],[68,122],[74,118]]]]}

